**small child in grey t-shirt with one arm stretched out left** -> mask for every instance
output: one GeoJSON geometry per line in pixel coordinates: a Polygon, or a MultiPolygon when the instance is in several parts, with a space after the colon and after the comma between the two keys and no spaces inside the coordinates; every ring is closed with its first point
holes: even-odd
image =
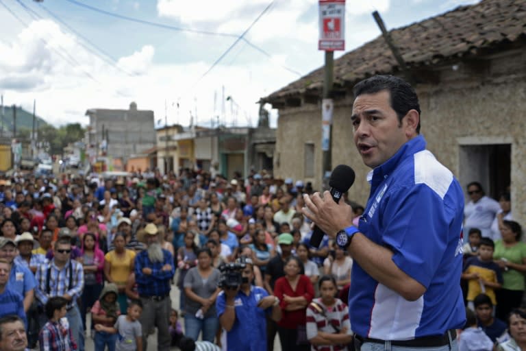
{"type": "Polygon", "coordinates": [[[128,304],[127,315],[120,315],[113,327],[96,324],[95,330],[118,333],[116,351],[135,351],[142,350],[142,328],[138,321],[142,313],[142,303],[139,300],[132,300],[128,304]]]}

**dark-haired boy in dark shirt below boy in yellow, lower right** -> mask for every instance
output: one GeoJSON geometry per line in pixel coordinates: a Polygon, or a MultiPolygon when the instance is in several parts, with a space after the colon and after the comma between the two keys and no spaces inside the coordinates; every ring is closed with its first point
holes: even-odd
{"type": "Polygon", "coordinates": [[[475,305],[475,315],[477,316],[478,326],[486,332],[486,335],[493,341],[499,343],[509,338],[505,322],[497,317],[493,317],[494,306],[488,295],[481,293],[473,300],[475,305]]]}

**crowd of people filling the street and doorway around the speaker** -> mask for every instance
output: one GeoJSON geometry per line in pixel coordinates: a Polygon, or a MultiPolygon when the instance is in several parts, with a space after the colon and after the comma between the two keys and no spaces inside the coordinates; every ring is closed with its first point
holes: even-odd
{"type": "MultiPolygon", "coordinates": [[[[352,336],[346,303],[353,260],[328,237],[310,246],[301,212],[307,185],[264,171],[230,181],[188,170],[179,177],[1,180],[0,315],[18,315],[29,347],[42,350],[83,350],[85,337],[95,350],[146,350],[154,328],[160,350],[185,337],[228,350],[271,350],[276,334],[284,350],[342,350],[352,336]],[[235,262],[247,267],[245,285],[221,289],[219,268],[235,262]],[[258,317],[240,308],[233,316],[231,306],[254,307],[251,295],[264,302],[258,317]]],[[[486,227],[466,226],[462,274],[466,304],[494,343],[508,330],[502,321],[521,306],[526,244],[511,220],[509,193],[498,208],[478,183],[468,195],[491,205],[487,227],[497,221],[499,228],[490,238],[482,236],[486,227]],[[488,306],[497,311],[489,328],[488,306]]],[[[351,204],[358,219],[363,207],[351,204]]]]}

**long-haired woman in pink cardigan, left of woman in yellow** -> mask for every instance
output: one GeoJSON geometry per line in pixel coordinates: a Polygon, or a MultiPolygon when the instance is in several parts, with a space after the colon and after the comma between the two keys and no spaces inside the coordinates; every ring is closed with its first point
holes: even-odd
{"type": "Polygon", "coordinates": [[[80,314],[82,325],[86,328],[86,313],[90,311],[90,308],[99,298],[103,287],[104,254],[97,245],[97,237],[91,232],[87,232],[82,237],[81,252],[84,268],[84,289],[82,290],[80,314]]]}

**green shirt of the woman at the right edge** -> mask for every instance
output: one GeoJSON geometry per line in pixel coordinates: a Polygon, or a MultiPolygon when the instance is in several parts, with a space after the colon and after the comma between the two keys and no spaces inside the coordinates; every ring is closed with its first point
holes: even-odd
{"type": "MultiPolygon", "coordinates": [[[[495,242],[495,251],[493,252],[493,258],[499,260],[505,258],[511,263],[517,265],[523,265],[523,259],[526,258],[526,243],[519,241],[512,247],[505,247],[502,240],[495,242]]],[[[508,268],[508,270],[502,271],[503,285],[502,289],[508,290],[524,290],[525,280],[524,274],[516,269],[508,268]]]]}

